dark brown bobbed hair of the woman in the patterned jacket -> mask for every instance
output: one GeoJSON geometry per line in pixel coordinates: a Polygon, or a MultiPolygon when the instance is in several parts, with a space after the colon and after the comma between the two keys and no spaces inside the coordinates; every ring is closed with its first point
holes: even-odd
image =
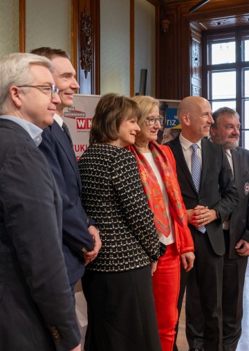
{"type": "Polygon", "coordinates": [[[131,98],[119,96],[116,93],[108,93],[102,96],[93,116],[89,136],[90,145],[116,141],[120,124],[134,116],[140,117],[140,109],[131,98]]]}

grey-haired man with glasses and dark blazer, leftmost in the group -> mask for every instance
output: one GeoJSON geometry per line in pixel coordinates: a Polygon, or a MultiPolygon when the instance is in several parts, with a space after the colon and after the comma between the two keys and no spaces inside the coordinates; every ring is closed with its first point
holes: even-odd
{"type": "Polygon", "coordinates": [[[0,350],[80,351],[62,253],[62,199],[42,131],[60,103],[45,57],[0,60],[0,350]]]}

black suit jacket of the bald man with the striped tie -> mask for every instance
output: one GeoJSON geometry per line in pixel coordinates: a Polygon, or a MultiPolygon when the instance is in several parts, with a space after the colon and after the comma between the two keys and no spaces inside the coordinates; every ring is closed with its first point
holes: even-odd
{"type": "MultiPolygon", "coordinates": [[[[179,136],[166,145],[171,148],[176,159],[176,173],[186,209],[201,205],[219,210],[221,220],[211,222],[206,226],[206,230],[216,255],[223,255],[225,243],[221,223],[232,213],[239,199],[232,170],[223,148],[205,138],[202,139],[201,186],[198,194],[183,155],[179,136]]],[[[193,226],[190,225],[190,230],[192,229],[193,226]]]]}

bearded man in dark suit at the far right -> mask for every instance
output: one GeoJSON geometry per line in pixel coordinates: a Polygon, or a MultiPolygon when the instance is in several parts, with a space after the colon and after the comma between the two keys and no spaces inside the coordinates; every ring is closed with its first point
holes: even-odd
{"type": "MultiPolygon", "coordinates": [[[[239,115],[229,107],[217,109],[210,127],[211,141],[223,147],[232,168],[239,203],[223,222],[225,255],[223,266],[223,350],[235,351],[241,336],[243,285],[249,255],[249,151],[239,147],[239,115]]],[[[203,314],[199,291],[187,282],[186,335],[192,348],[203,348],[203,314]]]]}

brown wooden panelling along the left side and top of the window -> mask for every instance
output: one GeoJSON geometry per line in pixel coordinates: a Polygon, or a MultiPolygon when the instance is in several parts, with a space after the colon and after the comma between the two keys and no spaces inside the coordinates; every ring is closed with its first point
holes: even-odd
{"type": "MultiPolygon", "coordinates": [[[[214,28],[219,30],[219,21],[214,23],[214,20],[225,17],[243,16],[243,19],[241,18],[237,23],[235,21],[235,25],[241,23],[242,20],[246,21],[245,24],[249,24],[246,16],[249,15],[248,0],[212,0],[190,14],[189,9],[195,3],[196,0],[190,0],[162,6],[161,19],[169,19],[170,26],[166,36],[160,34],[160,55],[162,57],[160,60],[160,84],[158,84],[160,98],[181,100],[192,93],[191,84],[194,84],[194,87],[200,87],[201,80],[192,77],[191,51],[192,44],[201,43],[201,36],[197,35],[196,37],[198,31],[201,33],[202,30],[214,28]],[[193,26],[196,28],[194,36],[191,29],[193,26]],[[164,46],[167,46],[168,51],[165,50],[164,46]],[[164,86],[164,82],[170,83],[164,86]]],[[[194,92],[196,93],[196,91],[194,92]]]]}

